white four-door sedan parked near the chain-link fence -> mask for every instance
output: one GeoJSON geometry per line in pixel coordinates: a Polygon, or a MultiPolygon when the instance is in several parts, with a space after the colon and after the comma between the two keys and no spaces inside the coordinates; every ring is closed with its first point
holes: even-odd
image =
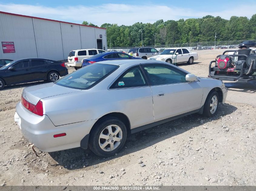
{"type": "Polygon", "coordinates": [[[167,49],[160,53],[158,56],[152,56],[148,58],[150,60],[160,60],[168,63],[176,63],[180,62],[188,62],[188,64],[192,64],[194,60],[198,60],[198,53],[189,52],[186,48],[179,49],[167,49]],[[177,57],[176,57],[177,56],[177,57]],[[176,60],[174,60],[176,57],[176,60]]]}

